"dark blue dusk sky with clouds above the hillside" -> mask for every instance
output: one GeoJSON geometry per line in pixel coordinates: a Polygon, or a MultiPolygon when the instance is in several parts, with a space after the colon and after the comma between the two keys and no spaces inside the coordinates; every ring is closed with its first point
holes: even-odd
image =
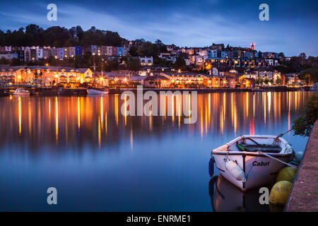
{"type": "Polygon", "coordinates": [[[135,0],[20,1],[1,0],[0,29],[36,23],[84,30],[95,26],[135,40],[204,47],[214,43],[317,57],[318,1],[135,0]],[[57,4],[57,21],[47,20],[47,4],[57,4]],[[259,5],[269,4],[269,21],[259,20],[259,5]]]}

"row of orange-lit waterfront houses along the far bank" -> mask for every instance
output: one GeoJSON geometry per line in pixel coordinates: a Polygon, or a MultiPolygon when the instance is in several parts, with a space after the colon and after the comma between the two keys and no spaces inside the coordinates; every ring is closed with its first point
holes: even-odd
{"type": "Polygon", "coordinates": [[[52,81],[54,85],[78,86],[83,83],[100,86],[117,85],[146,85],[149,87],[206,87],[206,88],[235,88],[251,87],[258,78],[276,81],[288,76],[289,82],[297,80],[297,74],[282,75],[278,71],[265,69],[247,69],[238,72],[235,69],[219,71],[213,68],[211,74],[175,71],[168,67],[145,67],[140,71],[119,70],[111,72],[90,69],[74,69],[64,66],[0,66],[0,78],[12,83],[22,83],[33,79],[52,81]]]}

